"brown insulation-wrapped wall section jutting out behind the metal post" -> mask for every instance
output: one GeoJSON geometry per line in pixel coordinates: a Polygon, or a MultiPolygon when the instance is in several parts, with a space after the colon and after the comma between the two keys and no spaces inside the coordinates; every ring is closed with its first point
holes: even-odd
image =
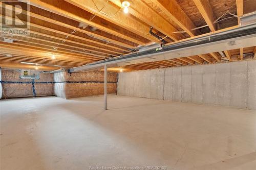
{"type": "MultiPolygon", "coordinates": [[[[117,76],[116,73],[108,73],[109,94],[117,91],[117,76]]],[[[56,72],[54,82],[54,95],[60,98],[70,99],[104,94],[103,71],[75,72],[71,75],[66,71],[56,72]]]]}

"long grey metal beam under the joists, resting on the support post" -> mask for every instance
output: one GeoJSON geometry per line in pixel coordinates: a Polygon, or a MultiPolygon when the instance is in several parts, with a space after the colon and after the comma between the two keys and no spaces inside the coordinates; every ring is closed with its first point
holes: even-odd
{"type": "Polygon", "coordinates": [[[69,72],[188,57],[242,47],[256,46],[256,23],[231,30],[177,41],[168,46],[114,57],[91,64],[71,68],[69,72]]]}

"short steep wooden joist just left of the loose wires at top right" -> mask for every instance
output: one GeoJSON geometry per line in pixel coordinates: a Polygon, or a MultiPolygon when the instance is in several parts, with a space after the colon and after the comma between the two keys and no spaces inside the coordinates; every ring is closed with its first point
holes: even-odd
{"type": "Polygon", "coordinates": [[[216,31],[216,20],[208,0],[193,0],[211,31],[216,31]]]}

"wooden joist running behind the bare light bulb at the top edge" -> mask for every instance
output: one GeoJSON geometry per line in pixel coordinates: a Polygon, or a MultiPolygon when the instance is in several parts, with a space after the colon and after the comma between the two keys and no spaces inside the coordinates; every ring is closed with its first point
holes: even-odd
{"type": "MultiPolygon", "coordinates": [[[[66,1],[76,1],[76,0],[66,0],[66,1]]],[[[123,8],[122,5],[115,0],[110,0],[112,3],[119,6],[119,8],[123,8]]],[[[139,18],[143,22],[147,23],[149,26],[157,29],[164,35],[169,38],[177,41],[179,39],[183,39],[182,34],[173,34],[173,32],[178,31],[174,26],[172,26],[167,20],[165,20],[162,16],[160,16],[153,9],[148,7],[141,0],[133,0],[131,3],[131,7],[129,8],[129,13],[139,18]]]]}

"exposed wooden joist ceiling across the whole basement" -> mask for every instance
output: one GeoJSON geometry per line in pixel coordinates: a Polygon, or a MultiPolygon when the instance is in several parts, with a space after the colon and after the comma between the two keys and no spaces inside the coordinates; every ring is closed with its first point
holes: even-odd
{"type": "MultiPolygon", "coordinates": [[[[20,62],[26,61],[76,67],[106,58],[122,57],[143,49],[145,45],[172,45],[241,27],[240,17],[247,11],[246,3],[236,0],[234,5],[218,1],[128,0],[130,7],[126,14],[121,4],[123,1],[30,0],[30,35],[16,35],[12,38],[1,35],[0,66],[3,63],[22,65],[20,62]],[[190,3],[189,8],[186,3],[190,3]],[[238,18],[223,15],[227,10],[237,14],[238,18]],[[10,40],[5,42],[5,38],[13,42],[7,43],[10,40]],[[54,60],[52,55],[56,56],[54,60]]],[[[26,6],[21,1],[16,2],[20,3],[20,7],[12,7],[11,1],[4,3],[9,6],[5,6],[6,9],[0,15],[7,21],[13,18],[11,15],[6,16],[6,12],[26,6]]],[[[23,10],[18,17],[20,20],[15,20],[15,23],[24,23],[27,12],[23,10]]],[[[254,53],[255,56],[256,47],[245,46],[224,51],[230,62],[237,61],[234,56],[244,60],[243,56],[247,53],[254,53]]],[[[226,60],[224,56],[213,52],[130,64],[123,68],[131,71],[214,64],[223,60],[226,60]]],[[[115,67],[113,71],[118,68],[115,67]]]]}

